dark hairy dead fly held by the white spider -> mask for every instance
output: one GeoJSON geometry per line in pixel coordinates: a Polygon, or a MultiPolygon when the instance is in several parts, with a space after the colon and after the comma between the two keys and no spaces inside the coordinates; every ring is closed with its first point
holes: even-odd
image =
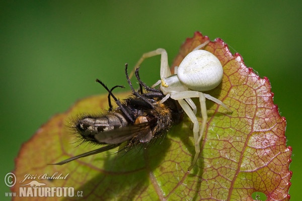
{"type": "Polygon", "coordinates": [[[173,124],[180,123],[184,112],[176,100],[169,98],[160,104],[160,100],[165,95],[161,90],[143,83],[139,78],[138,68],[135,70],[135,76],[140,88],[139,91],[135,91],[128,76],[127,64],[125,73],[133,94],[120,101],[112,90],[124,86],[117,85],[109,89],[97,79],[96,81],[109,93],[109,110],[107,114],[99,117],[86,116],[75,122],[74,125],[75,131],[84,141],[106,146],[68,158],[54,165],[62,165],[78,158],[111,150],[121,144],[125,144],[122,150],[127,150],[133,145],[149,143],[164,136],[173,124]],[[145,89],[145,92],[142,88],[145,89]],[[111,97],[118,106],[115,109],[111,105],[111,97]]]}

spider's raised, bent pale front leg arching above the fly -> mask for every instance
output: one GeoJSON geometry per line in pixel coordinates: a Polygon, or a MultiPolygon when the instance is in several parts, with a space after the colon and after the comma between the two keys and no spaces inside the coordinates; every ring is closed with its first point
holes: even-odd
{"type": "Polygon", "coordinates": [[[146,58],[149,58],[149,57],[153,57],[153,56],[157,56],[157,55],[161,55],[161,79],[163,77],[169,77],[171,75],[171,71],[170,71],[170,67],[169,67],[169,64],[168,64],[168,54],[167,54],[167,51],[163,48],[159,48],[157,50],[154,50],[154,51],[151,51],[151,52],[147,52],[147,53],[144,53],[140,59],[138,60],[138,62],[135,64],[133,70],[131,71],[129,77],[131,78],[135,72],[135,69],[137,67],[140,66],[140,64],[146,59],[146,58]]]}

